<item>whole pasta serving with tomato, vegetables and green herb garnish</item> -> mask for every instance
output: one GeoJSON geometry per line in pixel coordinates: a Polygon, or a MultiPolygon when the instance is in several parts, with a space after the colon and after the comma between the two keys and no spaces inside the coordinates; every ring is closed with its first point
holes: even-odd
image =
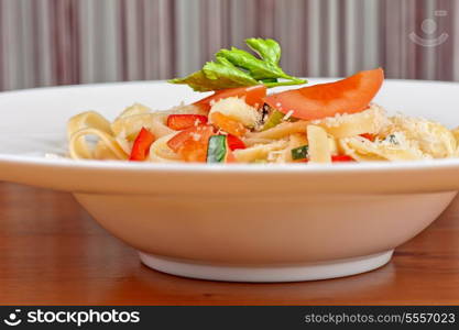
{"type": "Polygon", "coordinates": [[[185,78],[212,95],[193,105],[154,111],[124,109],[112,122],[95,111],[68,121],[74,160],[198,163],[336,163],[456,157],[459,130],[372,102],[381,68],[348,78],[269,94],[306,80],[278,66],[273,40],[249,38],[255,55],[221,50],[216,61],[185,78]]]}

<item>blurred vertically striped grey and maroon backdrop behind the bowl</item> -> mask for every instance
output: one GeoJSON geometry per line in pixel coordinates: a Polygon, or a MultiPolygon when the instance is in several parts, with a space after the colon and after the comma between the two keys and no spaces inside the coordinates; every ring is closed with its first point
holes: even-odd
{"type": "Polygon", "coordinates": [[[165,79],[276,38],[293,75],[459,80],[458,0],[0,0],[0,90],[165,79]]]}

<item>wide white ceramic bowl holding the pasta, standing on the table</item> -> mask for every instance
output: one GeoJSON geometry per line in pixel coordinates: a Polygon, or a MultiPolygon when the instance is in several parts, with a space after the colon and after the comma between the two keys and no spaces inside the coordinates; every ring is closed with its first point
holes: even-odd
{"type": "MultiPolygon", "coordinates": [[[[323,81],[323,80],[315,80],[323,81]]],[[[459,85],[387,80],[376,102],[459,124],[459,85]]],[[[0,179],[70,191],[147,266],[218,280],[331,278],[384,265],[459,189],[459,160],[334,165],[139,164],[65,153],[69,117],[199,96],[164,82],[0,94],[0,179]]]]}

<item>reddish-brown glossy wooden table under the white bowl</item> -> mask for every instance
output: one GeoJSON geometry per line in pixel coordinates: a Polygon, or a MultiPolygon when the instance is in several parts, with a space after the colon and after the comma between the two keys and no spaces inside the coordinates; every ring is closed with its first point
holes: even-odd
{"type": "Polygon", "coordinates": [[[309,283],[237,284],[151,271],[69,194],[0,183],[0,304],[459,304],[459,199],[380,270],[309,283]]]}

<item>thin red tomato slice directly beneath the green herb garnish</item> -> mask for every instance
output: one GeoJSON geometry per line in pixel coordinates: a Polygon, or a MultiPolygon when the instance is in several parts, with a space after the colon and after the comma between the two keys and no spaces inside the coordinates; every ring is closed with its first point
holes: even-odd
{"type": "Polygon", "coordinates": [[[204,98],[193,105],[200,107],[205,111],[209,111],[211,108],[211,102],[219,101],[221,99],[238,97],[243,98],[245,97],[245,102],[249,106],[259,108],[263,106],[264,98],[266,97],[266,86],[264,85],[255,85],[255,86],[248,86],[248,87],[238,87],[238,88],[228,88],[221,89],[214,92],[214,95],[204,98]]]}

